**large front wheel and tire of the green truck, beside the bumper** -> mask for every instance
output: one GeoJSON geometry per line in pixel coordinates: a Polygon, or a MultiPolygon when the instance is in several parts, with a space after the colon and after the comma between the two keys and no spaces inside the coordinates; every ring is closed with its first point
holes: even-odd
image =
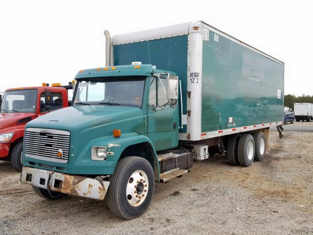
{"type": "Polygon", "coordinates": [[[110,210],[123,219],[137,218],[149,208],[154,189],[151,164],[140,157],[124,158],[110,177],[107,195],[110,210]]]}

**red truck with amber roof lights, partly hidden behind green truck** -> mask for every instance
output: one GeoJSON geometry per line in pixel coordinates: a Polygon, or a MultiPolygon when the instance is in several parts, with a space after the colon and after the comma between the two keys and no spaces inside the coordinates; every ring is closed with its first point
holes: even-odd
{"type": "Polygon", "coordinates": [[[54,83],[51,87],[7,89],[0,95],[0,161],[10,161],[13,168],[22,170],[24,129],[27,122],[51,111],[70,105],[68,90],[73,89],[54,83]]]}

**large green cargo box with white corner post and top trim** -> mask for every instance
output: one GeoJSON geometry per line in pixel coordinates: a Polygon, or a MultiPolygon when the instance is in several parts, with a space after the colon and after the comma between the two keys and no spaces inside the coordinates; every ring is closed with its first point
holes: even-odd
{"type": "Polygon", "coordinates": [[[203,22],[117,35],[111,56],[114,66],[141,61],[178,74],[180,140],[283,120],[284,63],[203,22]]]}

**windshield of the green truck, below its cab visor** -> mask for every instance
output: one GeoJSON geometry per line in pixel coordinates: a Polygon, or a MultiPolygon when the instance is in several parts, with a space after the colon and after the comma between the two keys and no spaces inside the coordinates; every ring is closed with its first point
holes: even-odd
{"type": "Polygon", "coordinates": [[[74,105],[121,105],[141,108],[145,77],[100,77],[79,81],[74,105]]]}

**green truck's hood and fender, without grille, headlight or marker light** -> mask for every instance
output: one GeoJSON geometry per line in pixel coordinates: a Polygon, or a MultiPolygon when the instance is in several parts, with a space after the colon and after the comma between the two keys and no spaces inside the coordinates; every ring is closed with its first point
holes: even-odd
{"type": "MultiPolygon", "coordinates": [[[[69,131],[69,162],[51,163],[24,156],[23,164],[35,164],[39,168],[45,166],[38,164],[53,165],[62,167],[62,172],[70,174],[112,174],[123,149],[138,138],[146,138],[141,109],[125,106],[67,107],[28,122],[26,128],[28,127],[69,131]],[[114,138],[114,129],[120,129],[122,136],[114,138]],[[112,143],[116,146],[110,148],[112,143]],[[106,146],[112,155],[107,156],[106,161],[93,161],[91,146],[106,146]]],[[[148,138],[141,141],[147,140],[148,138]]]]}

